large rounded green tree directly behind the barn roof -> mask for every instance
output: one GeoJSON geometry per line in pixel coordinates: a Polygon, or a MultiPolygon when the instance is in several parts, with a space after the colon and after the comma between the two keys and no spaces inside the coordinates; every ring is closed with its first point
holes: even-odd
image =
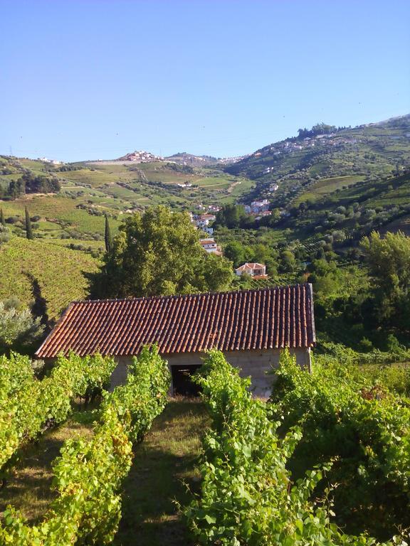
{"type": "Polygon", "coordinates": [[[91,280],[95,297],[158,296],[228,289],[228,259],[207,254],[188,213],[162,205],[125,220],[91,280]]]}

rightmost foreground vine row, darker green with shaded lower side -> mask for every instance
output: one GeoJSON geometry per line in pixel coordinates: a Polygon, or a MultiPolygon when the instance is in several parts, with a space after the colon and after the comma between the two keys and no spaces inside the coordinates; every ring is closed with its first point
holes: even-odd
{"type": "Polygon", "coordinates": [[[334,461],[327,481],[337,484],[338,523],[382,539],[409,526],[408,402],[336,358],[319,358],[310,374],[285,353],[277,375],[273,420],[282,433],[303,425],[290,467],[334,461]]]}

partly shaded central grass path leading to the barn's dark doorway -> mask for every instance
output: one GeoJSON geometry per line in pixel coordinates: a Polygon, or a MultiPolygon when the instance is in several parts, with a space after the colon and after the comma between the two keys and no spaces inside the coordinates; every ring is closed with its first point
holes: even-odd
{"type": "Polygon", "coordinates": [[[177,503],[186,505],[191,498],[185,483],[198,488],[195,466],[207,422],[199,399],[172,399],[155,419],[147,437],[135,448],[115,546],[193,544],[177,503]]]}

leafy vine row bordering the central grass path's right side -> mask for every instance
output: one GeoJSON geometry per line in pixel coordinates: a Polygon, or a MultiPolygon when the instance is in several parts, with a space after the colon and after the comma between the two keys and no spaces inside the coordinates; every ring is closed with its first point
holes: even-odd
{"type": "Polygon", "coordinates": [[[199,384],[211,414],[204,439],[201,493],[185,510],[202,545],[374,545],[364,535],[344,535],[330,523],[325,503],[310,501],[328,466],[316,466],[292,483],[288,461],[301,429],[278,434],[270,410],[253,400],[249,380],[213,350],[199,384]]]}

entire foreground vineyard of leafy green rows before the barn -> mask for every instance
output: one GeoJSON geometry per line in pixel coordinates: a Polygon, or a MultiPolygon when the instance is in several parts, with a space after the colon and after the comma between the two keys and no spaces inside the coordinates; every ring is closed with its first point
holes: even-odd
{"type": "Polygon", "coordinates": [[[266,402],[253,399],[250,380],[211,350],[196,375],[208,427],[201,402],[174,401],[164,410],[170,378],[156,348],[144,348],[126,384],[108,393],[114,365],[99,355],[60,356],[38,379],[28,358],[0,360],[3,491],[26,447],[65,422],[73,400],[102,393],[90,432],[66,439],[53,462],[43,513],[28,521],[11,496],[0,544],[408,543],[409,367],[359,368],[353,354],[336,350],[317,356],[310,374],[283,353],[266,402]],[[142,439],[147,446],[133,449],[142,439]],[[191,493],[177,478],[186,465],[182,445],[191,493]]]}

